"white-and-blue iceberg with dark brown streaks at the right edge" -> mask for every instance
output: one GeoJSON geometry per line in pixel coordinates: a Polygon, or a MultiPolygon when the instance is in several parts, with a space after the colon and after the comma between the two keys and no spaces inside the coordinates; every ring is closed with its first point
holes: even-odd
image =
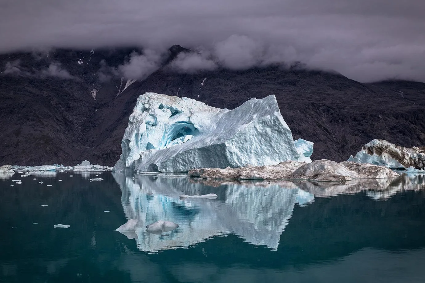
{"type": "Polygon", "coordinates": [[[411,166],[420,169],[425,168],[425,146],[407,148],[386,140],[372,140],[347,161],[371,163],[391,169],[404,169],[411,166]]]}

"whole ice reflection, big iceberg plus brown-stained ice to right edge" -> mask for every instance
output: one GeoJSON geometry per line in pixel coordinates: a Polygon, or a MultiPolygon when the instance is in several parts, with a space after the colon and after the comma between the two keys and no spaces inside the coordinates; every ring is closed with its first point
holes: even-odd
{"type": "MultiPolygon", "coordinates": [[[[392,179],[355,179],[346,182],[236,181],[191,179],[174,175],[125,175],[113,172],[122,189],[122,206],[137,225],[128,238],[146,252],[188,247],[232,233],[253,245],[277,249],[280,235],[291,219],[295,204],[365,191],[374,200],[388,199],[399,191],[422,190],[425,177],[403,174],[392,179]],[[182,194],[215,193],[216,199],[179,198],[182,194]],[[159,235],[145,226],[164,220],[178,228],[159,235]]],[[[128,232],[128,231],[127,231],[128,232]]]]}

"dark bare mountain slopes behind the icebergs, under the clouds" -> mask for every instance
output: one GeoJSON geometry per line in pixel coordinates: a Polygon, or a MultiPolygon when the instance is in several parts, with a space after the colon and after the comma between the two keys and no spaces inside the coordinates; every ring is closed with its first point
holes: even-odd
{"type": "Polygon", "coordinates": [[[179,52],[190,51],[177,45],[155,73],[127,81],[116,69],[133,50],[140,51],[0,56],[0,164],[73,165],[88,159],[113,165],[136,98],[144,92],[186,96],[229,109],[274,94],[294,138],[314,142],[313,159],[346,160],[374,138],[408,147],[425,145],[423,83],[362,84],[298,66],[176,73],[168,63],[179,52]]]}

